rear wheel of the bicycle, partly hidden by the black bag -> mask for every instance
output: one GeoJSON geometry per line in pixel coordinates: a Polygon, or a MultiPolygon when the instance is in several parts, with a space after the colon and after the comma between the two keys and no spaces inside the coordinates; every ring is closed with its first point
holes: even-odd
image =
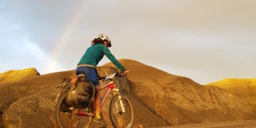
{"type": "MultiPolygon", "coordinates": [[[[92,121],[92,116],[79,116],[77,111],[86,111],[87,109],[76,109],[65,105],[65,98],[67,97],[67,92],[62,93],[61,97],[56,103],[56,122],[60,128],[75,128],[75,127],[89,127],[92,121]]],[[[90,113],[90,112],[89,112],[90,113]]]]}

